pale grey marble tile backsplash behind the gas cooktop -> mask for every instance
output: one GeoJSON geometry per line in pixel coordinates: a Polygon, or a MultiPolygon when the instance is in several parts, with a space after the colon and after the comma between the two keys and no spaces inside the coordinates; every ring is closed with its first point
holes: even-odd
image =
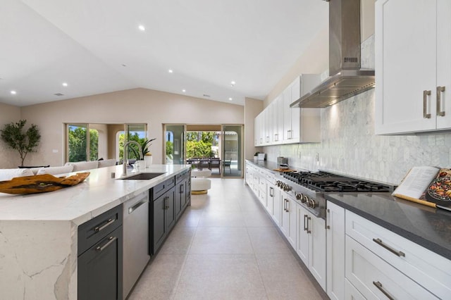
{"type": "MultiPolygon", "coordinates": [[[[373,37],[362,44],[362,65],[374,62],[373,37]]],[[[321,143],[266,146],[268,161],[288,157],[289,165],[330,170],[399,184],[415,165],[451,167],[451,133],[374,135],[374,89],[322,108],[321,143]],[[318,160],[316,159],[318,158],[318,160]]]]}

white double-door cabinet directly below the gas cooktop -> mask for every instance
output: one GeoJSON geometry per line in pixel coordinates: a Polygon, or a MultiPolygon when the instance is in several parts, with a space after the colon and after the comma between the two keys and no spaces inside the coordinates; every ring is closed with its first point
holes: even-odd
{"type": "Polygon", "coordinates": [[[297,206],[297,255],[326,290],[326,229],[322,218],[297,206]]]}

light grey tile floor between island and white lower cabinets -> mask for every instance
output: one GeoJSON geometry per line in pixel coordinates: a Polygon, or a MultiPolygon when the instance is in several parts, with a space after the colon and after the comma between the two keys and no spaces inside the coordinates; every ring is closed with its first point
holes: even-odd
{"type": "Polygon", "coordinates": [[[211,178],[128,299],[328,297],[243,180],[211,178]]]}

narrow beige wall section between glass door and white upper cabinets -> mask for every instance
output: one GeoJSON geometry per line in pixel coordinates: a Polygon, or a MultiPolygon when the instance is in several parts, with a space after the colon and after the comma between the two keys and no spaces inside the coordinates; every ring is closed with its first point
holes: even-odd
{"type": "Polygon", "coordinates": [[[254,146],[254,119],[263,111],[263,101],[245,98],[245,159],[253,159],[257,151],[254,146]]]}

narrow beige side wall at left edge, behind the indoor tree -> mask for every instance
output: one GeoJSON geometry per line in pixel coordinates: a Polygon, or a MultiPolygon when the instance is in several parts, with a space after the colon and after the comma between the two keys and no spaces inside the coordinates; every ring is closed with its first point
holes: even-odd
{"type": "MultiPolygon", "coordinates": [[[[0,127],[3,129],[4,125],[11,122],[18,122],[20,120],[20,107],[0,103],[0,127]]],[[[27,122],[25,126],[31,125],[27,122]]],[[[0,141],[0,168],[17,168],[20,165],[19,154],[10,148],[6,147],[4,142],[0,141]]],[[[26,161],[26,160],[25,160],[26,161]]]]}

